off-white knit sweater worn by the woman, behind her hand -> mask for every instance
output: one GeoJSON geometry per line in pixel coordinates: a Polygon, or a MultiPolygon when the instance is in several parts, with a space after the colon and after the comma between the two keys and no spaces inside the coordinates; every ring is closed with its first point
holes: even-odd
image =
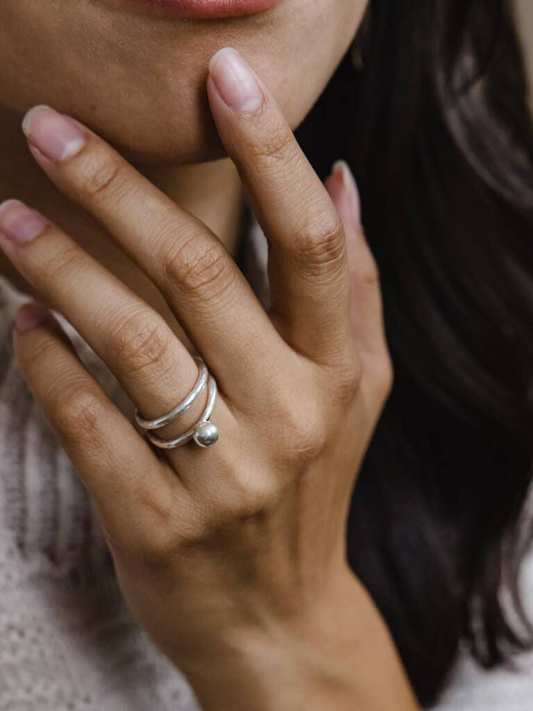
{"type": "MultiPolygon", "coordinates": [[[[264,235],[257,225],[252,235],[251,281],[266,301],[264,235]]],[[[0,711],[198,710],[126,611],[95,508],[14,365],[11,326],[27,300],[0,277],[0,711]]],[[[60,321],[127,412],[107,366],[60,321]]],[[[524,572],[533,602],[533,562],[524,572]]],[[[460,661],[438,709],[531,711],[533,653],[519,662],[522,673],[482,673],[460,661]]]]}

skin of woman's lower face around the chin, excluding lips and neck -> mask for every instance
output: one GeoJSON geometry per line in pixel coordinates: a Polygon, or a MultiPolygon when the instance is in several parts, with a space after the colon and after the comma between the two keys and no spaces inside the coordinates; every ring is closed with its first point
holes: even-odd
{"type": "Polygon", "coordinates": [[[294,128],[364,6],[285,0],[246,18],[194,22],[124,13],[114,0],[2,0],[0,97],[18,114],[40,103],[72,114],[137,161],[198,163],[223,155],[204,89],[217,49],[235,46],[253,61],[294,128]]]}

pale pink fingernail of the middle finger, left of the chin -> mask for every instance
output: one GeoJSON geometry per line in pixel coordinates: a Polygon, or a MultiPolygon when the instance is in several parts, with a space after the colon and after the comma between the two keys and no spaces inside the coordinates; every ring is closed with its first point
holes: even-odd
{"type": "Polygon", "coordinates": [[[76,124],[48,106],[33,107],[24,117],[22,130],[28,141],[54,163],[75,156],[86,142],[76,124]]]}

